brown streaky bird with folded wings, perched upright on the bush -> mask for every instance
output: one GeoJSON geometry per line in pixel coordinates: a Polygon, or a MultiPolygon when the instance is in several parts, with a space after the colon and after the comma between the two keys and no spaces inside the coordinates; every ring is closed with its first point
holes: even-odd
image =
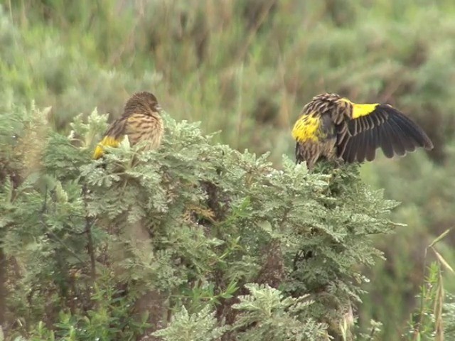
{"type": "Polygon", "coordinates": [[[125,104],[122,116],[113,121],[105,132],[105,136],[95,148],[93,158],[103,156],[106,146],[119,146],[125,135],[132,145],[147,141],[146,149],[158,148],[164,134],[160,111],[161,107],[154,94],[150,92],[133,94],[125,104]]]}

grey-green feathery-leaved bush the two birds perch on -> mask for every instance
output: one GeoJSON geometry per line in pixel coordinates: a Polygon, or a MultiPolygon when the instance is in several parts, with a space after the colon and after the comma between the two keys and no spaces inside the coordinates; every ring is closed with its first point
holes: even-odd
{"type": "Polygon", "coordinates": [[[125,139],[92,161],[107,117],[77,117],[63,136],[38,129],[37,115],[21,116],[24,138],[1,142],[14,161],[0,207],[10,335],[350,335],[362,266],[381,256],[370,236],[392,231],[396,205],[357,166],[307,173],[284,157],[277,170],[267,155],[213,144],[198,124],[167,115],[158,151],[125,139]],[[29,163],[18,151],[33,131],[43,136],[29,163]]]}

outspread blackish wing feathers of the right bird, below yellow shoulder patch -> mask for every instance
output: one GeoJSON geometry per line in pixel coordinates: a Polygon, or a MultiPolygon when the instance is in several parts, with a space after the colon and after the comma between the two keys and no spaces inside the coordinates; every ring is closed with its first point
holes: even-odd
{"type": "Polygon", "coordinates": [[[387,158],[417,147],[433,148],[422,128],[388,104],[377,104],[371,112],[346,119],[337,131],[338,156],[349,163],[372,161],[379,147],[387,158]]]}

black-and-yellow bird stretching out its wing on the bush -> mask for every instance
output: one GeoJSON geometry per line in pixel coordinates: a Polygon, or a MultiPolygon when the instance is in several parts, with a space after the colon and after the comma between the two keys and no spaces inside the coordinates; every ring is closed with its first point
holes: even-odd
{"type": "Polygon", "coordinates": [[[411,119],[389,104],[355,104],[338,94],[319,94],[304,106],[292,129],[296,162],[309,169],[321,158],[353,163],[373,161],[377,148],[387,158],[432,141],[411,119]]]}

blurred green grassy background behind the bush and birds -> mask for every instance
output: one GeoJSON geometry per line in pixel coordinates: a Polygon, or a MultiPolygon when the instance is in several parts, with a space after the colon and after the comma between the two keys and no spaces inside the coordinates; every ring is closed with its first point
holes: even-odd
{"type": "MultiPolygon", "coordinates": [[[[387,261],[365,288],[360,319],[405,329],[424,248],[454,226],[455,2],[451,0],[1,0],[1,109],[52,106],[68,132],[94,107],[112,118],[149,90],[176,119],[202,121],[233,148],[292,156],[290,129],[320,92],[388,102],[410,114],[433,151],[380,156],[365,181],[400,200],[406,223],[378,237],[387,261]]],[[[455,259],[455,234],[442,247],[455,259]]],[[[449,275],[448,275],[449,276],[449,275]]],[[[455,291],[454,278],[446,290],[455,291]]]]}

